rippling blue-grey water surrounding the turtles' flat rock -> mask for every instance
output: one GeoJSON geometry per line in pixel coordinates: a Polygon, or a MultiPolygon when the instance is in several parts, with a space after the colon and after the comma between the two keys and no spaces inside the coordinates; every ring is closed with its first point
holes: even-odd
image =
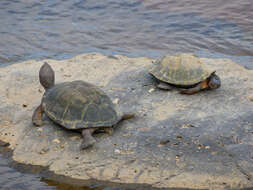
{"type": "MultiPolygon", "coordinates": [[[[0,66],[88,52],[194,52],[253,69],[252,0],[1,0],[0,26],[0,66]]],[[[4,189],[63,189],[2,157],[0,175],[4,189]]]]}

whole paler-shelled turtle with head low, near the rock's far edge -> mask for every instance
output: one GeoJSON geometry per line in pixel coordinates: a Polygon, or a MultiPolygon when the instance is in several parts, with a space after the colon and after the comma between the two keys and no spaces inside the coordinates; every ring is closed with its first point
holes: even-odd
{"type": "Polygon", "coordinates": [[[215,71],[206,69],[193,54],[165,56],[151,65],[149,73],[158,80],[158,88],[184,88],[180,91],[181,94],[194,94],[203,89],[219,88],[221,85],[215,71]]]}

